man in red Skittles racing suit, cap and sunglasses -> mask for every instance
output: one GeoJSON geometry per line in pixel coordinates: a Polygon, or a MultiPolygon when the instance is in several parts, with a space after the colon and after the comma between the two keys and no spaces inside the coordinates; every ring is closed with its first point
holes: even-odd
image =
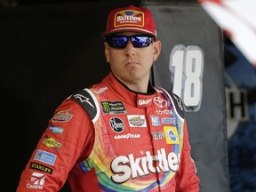
{"type": "Polygon", "coordinates": [[[149,82],[161,52],[155,21],[133,5],[109,12],[111,72],[56,109],[17,191],[199,191],[180,99],[149,82]]]}

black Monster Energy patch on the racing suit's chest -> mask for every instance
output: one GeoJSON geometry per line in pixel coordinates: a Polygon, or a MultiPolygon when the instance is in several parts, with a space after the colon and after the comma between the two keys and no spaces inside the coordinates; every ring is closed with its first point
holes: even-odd
{"type": "Polygon", "coordinates": [[[101,101],[102,110],[108,114],[127,113],[122,101],[101,101]]]}

